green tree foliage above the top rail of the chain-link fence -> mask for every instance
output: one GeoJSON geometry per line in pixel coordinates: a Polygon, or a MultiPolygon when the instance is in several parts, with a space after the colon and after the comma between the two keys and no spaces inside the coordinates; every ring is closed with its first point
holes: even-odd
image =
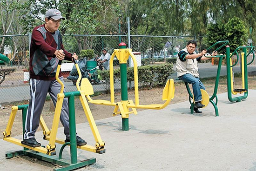
{"type": "MultiPolygon", "coordinates": [[[[255,42],[253,5],[254,0],[1,0],[0,34],[17,34],[17,28],[10,29],[12,25],[19,25],[20,33],[31,32],[34,26],[43,23],[47,9],[56,8],[67,19],[61,24],[62,34],[127,34],[129,17],[131,34],[202,38],[208,30],[230,31],[232,26],[217,25],[236,17],[243,21],[244,31],[255,42]]],[[[75,39],[81,48],[90,48],[88,42],[92,40],[75,39]]],[[[1,50],[5,40],[0,40],[1,50]]],[[[242,40],[246,42],[247,37],[242,40]]]]}

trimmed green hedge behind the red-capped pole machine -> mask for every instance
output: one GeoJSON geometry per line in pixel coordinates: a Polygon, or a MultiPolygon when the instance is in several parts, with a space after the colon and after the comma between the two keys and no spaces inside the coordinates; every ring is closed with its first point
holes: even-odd
{"type": "MultiPolygon", "coordinates": [[[[150,85],[150,87],[156,85],[165,85],[168,76],[174,73],[173,65],[152,65],[152,66],[139,66],[138,67],[138,82],[141,86],[150,85]]],[[[99,76],[102,81],[109,84],[109,71],[99,71],[99,76]]],[[[114,79],[120,81],[120,69],[114,69],[114,79]]],[[[127,68],[128,81],[134,80],[134,68],[127,68]]]]}

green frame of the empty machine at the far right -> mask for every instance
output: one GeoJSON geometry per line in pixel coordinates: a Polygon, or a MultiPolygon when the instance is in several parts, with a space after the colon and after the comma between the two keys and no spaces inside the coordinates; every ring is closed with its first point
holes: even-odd
{"type": "Polygon", "coordinates": [[[248,97],[248,73],[247,73],[247,66],[249,64],[251,64],[255,58],[255,55],[253,53],[255,49],[255,46],[239,46],[236,48],[236,50],[230,55],[230,47],[227,46],[226,47],[226,56],[227,56],[227,85],[228,85],[228,99],[230,102],[240,102],[241,100],[243,99],[246,99],[248,97]],[[230,68],[233,67],[233,66],[236,66],[237,62],[238,62],[238,59],[239,59],[239,55],[238,55],[238,50],[242,49],[243,50],[243,53],[244,53],[244,88],[245,90],[247,90],[246,92],[244,92],[243,96],[239,96],[239,97],[232,97],[232,90],[231,90],[231,72],[230,72],[230,68]],[[247,50],[246,49],[249,49],[249,53],[247,54],[247,50]],[[247,57],[248,55],[252,53],[253,55],[253,59],[251,62],[249,62],[247,64],[247,57]],[[237,56],[237,60],[236,60],[236,63],[233,64],[232,66],[230,66],[230,58],[232,58],[232,56],[236,54],[237,56]]]}

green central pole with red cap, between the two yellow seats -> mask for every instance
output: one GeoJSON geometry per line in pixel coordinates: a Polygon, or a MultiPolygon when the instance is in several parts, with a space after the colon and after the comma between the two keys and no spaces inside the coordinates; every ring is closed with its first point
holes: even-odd
{"type": "MultiPolygon", "coordinates": [[[[125,49],[126,44],[120,43],[120,49],[125,49]]],[[[120,64],[120,77],[121,77],[121,101],[128,100],[127,88],[127,64],[120,64]]],[[[129,118],[122,118],[122,131],[129,131],[129,118]]]]}

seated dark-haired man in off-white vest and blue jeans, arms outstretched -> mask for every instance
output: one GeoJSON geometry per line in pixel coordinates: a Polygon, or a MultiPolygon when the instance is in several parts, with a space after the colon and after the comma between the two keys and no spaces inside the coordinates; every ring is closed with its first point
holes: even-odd
{"type": "MultiPolygon", "coordinates": [[[[176,71],[179,79],[192,84],[195,100],[194,111],[196,113],[202,113],[202,111],[198,110],[198,108],[204,107],[204,105],[201,103],[202,94],[200,89],[205,90],[205,87],[199,79],[197,62],[211,58],[206,58],[204,56],[207,53],[206,49],[204,49],[201,53],[195,53],[196,46],[197,42],[195,40],[189,40],[187,46],[178,53],[178,58],[176,60],[176,71]]],[[[214,51],[211,55],[216,56],[217,54],[217,51],[214,51]]]]}

